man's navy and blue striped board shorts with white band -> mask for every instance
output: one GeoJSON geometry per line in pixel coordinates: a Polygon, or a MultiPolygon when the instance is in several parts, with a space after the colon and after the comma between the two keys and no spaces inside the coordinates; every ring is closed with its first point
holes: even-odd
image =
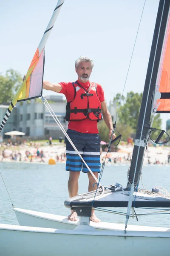
{"type": "MultiPolygon", "coordinates": [[[[92,172],[100,172],[100,137],[99,134],[85,134],[71,129],[67,130],[68,136],[71,138],[75,147],[81,154],[92,172]]],[[[66,171],[82,171],[89,172],[81,158],[74,150],[68,139],[65,137],[66,143],[66,171]]]]}

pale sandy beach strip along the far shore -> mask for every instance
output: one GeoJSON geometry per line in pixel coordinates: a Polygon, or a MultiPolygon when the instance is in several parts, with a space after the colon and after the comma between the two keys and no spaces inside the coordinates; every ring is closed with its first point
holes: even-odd
{"type": "MultiPolygon", "coordinates": [[[[57,145],[44,145],[44,146],[28,146],[23,145],[19,150],[9,150],[8,147],[5,149],[5,157],[2,156],[3,148],[0,148],[1,155],[0,160],[2,161],[17,161],[25,163],[42,163],[48,164],[50,159],[54,159],[55,163],[65,163],[65,144],[60,143],[57,145]],[[40,152],[40,156],[37,156],[37,148],[40,152]],[[41,151],[43,151],[43,157],[41,157],[41,151]],[[15,154],[15,160],[10,157],[10,154],[15,154]],[[19,154],[18,154],[19,153],[19,154]],[[2,159],[3,158],[3,159],[2,159]]],[[[131,161],[133,152],[132,145],[120,145],[117,152],[108,153],[106,163],[109,164],[129,164],[131,161]]],[[[170,148],[164,146],[150,146],[148,151],[145,153],[144,164],[168,164],[168,154],[170,154],[170,148]]],[[[105,160],[106,152],[101,153],[101,162],[105,160]]]]}

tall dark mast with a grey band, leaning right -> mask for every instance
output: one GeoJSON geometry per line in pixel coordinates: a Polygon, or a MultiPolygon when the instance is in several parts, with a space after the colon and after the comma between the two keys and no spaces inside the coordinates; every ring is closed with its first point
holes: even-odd
{"type": "Polygon", "coordinates": [[[132,161],[130,165],[129,178],[127,187],[133,183],[139,184],[140,173],[144,158],[144,151],[147,144],[147,134],[150,127],[150,115],[153,105],[153,93],[156,87],[157,73],[161,58],[161,50],[164,43],[164,35],[166,32],[167,19],[169,16],[170,0],[160,0],[156,17],[156,25],[153,34],[153,41],[150,50],[150,58],[147,67],[147,75],[144,84],[142,104],[139,113],[138,126],[136,130],[136,138],[133,148],[132,161]]]}

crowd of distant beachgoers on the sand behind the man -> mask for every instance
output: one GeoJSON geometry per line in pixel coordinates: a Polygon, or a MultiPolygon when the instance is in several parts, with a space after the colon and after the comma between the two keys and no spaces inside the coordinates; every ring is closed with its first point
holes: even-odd
{"type": "MultiPolygon", "coordinates": [[[[127,145],[126,147],[128,148],[129,145],[131,145],[133,142],[132,138],[129,138],[129,140],[127,141],[127,145]]],[[[49,141],[48,141],[48,145],[53,146],[52,144],[52,137],[49,137],[49,141]]],[[[1,144],[1,147],[3,146],[3,150],[0,153],[0,161],[22,161],[22,162],[39,162],[39,163],[44,163],[44,162],[48,162],[48,160],[52,157],[53,159],[55,159],[55,162],[57,163],[65,163],[66,162],[66,153],[65,153],[65,149],[63,148],[63,152],[61,153],[61,151],[59,150],[57,152],[57,150],[55,150],[55,152],[49,152],[48,150],[45,151],[45,149],[43,150],[42,148],[40,149],[41,145],[40,143],[35,143],[35,142],[29,142],[29,145],[26,144],[26,140],[23,141],[23,144],[20,144],[21,149],[23,149],[24,147],[27,147],[25,153],[21,154],[20,150],[9,150],[8,148],[11,148],[11,146],[13,146],[14,148],[16,147],[16,145],[13,145],[11,140],[9,139],[7,143],[4,143],[3,145],[1,144]],[[23,147],[23,148],[22,148],[23,147]],[[34,149],[33,149],[34,148],[34,149]]],[[[125,145],[124,145],[125,146],[125,145]]],[[[115,148],[114,148],[115,149],[115,148]]],[[[109,152],[108,151],[108,147],[106,145],[106,147],[103,149],[101,147],[101,151],[100,151],[100,158],[101,158],[101,163],[103,163],[105,161],[105,163],[108,164],[130,164],[131,160],[132,160],[132,153],[127,153],[126,155],[122,155],[122,154],[114,154],[114,152],[109,152]],[[107,156],[106,156],[107,153],[107,156]],[[106,159],[105,159],[106,157],[106,159]]],[[[159,158],[155,158],[155,160],[150,160],[150,157],[147,156],[147,164],[170,164],[170,152],[167,154],[167,160],[161,161],[159,160],[159,158]]]]}

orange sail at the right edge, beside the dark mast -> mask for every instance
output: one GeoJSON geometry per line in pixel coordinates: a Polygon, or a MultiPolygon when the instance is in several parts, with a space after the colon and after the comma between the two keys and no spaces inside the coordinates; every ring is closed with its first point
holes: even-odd
{"type": "Polygon", "coordinates": [[[167,20],[156,85],[159,93],[161,93],[161,97],[157,101],[158,108],[156,113],[170,113],[170,13],[167,20]]]}

